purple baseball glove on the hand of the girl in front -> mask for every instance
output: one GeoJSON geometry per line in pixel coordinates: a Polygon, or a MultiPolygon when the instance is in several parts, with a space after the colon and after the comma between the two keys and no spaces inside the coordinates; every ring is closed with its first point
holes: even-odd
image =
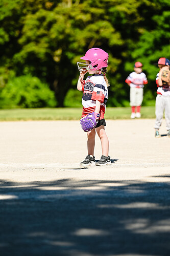
{"type": "Polygon", "coordinates": [[[80,119],[80,124],[84,132],[89,132],[97,125],[100,118],[100,114],[92,112],[85,117],[80,119]]]}

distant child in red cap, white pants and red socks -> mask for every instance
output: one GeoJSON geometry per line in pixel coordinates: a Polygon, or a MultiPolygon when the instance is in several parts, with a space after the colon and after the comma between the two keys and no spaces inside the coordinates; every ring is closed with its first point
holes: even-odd
{"type": "Polygon", "coordinates": [[[140,118],[140,108],[143,101],[143,87],[148,83],[146,75],[142,72],[142,63],[137,61],[134,65],[134,72],[125,80],[130,86],[130,106],[131,106],[131,118],[140,118]],[[136,107],[136,113],[135,113],[136,107]]]}

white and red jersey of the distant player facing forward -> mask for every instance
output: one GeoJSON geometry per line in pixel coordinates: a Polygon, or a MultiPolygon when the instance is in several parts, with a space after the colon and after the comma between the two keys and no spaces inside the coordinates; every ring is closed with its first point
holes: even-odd
{"type": "Polygon", "coordinates": [[[132,72],[127,77],[125,82],[130,84],[130,87],[143,88],[144,84],[148,83],[148,80],[147,80],[147,76],[143,72],[141,72],[140,74],[137,74],[136,72],[132,72]]]}

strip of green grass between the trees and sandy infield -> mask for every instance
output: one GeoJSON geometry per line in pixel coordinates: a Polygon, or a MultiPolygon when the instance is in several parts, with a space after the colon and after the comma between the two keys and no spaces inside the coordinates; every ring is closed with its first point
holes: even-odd
{"type": "MultiPolygon", "coordinates": [[[[0,110],[0,121],[79,120],[82,108],[42,108],[0,110]]],[[[130,119],[131,108],[106,108],[106,119],[130,119]]],[[[141,118],[155,118],[155,106],[142,106],[141,118]]]]}

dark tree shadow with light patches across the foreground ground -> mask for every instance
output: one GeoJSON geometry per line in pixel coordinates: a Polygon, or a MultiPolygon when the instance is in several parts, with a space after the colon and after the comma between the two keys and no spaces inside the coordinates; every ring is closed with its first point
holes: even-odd
{"type": "Polygon", "coordinates": [[[170,255],[168,182],[3,180],[0,199],[2,256],[170,255]]]}

